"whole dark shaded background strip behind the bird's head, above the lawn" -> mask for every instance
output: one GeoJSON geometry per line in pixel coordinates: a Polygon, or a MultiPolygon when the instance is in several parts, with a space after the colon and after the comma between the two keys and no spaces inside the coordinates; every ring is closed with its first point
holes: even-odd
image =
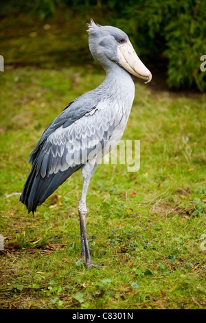
{"type": "MultiPolygon", "coordinates": [[[[130,37],[162,89],[205,91],[206,2],[201,0],[1,1],[0,54],[6,66],[95,65],[88,50],[93,18],[130,37]]],[[[97,65],[95,65],[99,68],[97,65]]]]}

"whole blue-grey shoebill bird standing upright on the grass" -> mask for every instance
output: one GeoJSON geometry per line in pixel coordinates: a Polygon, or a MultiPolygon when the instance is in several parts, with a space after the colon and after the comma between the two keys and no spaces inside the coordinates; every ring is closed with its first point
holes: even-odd
{"type": "Polygon", "coordinates": [[[117,27],[99,25],[90,19],[89,50],[106,72],[104,81],[82,94],[62,110],[47,126],[30,154],[30,174],[20,201],[28,213],[36,211],[74,172],[82,172],[82,192],[78,201],[81,259],[91,261],[87,238],[87,190],[100,159],[122,138],[135,97],[133,76],[152,79],[151,72],[137,56],[128,35],[117,27]]]}

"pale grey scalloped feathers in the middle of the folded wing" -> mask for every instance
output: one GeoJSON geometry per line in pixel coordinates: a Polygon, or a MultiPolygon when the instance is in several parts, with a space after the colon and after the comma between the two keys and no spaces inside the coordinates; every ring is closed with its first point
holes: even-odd
{"type": "Polygon", "coordinates": [[[43,144],[45,156],[41,175],[49,176],[59,170],[86,164],[88,158],[98,155],[119,122],[115,111],[111,113],[111,110],[109,103],[98,104],[93,113],[87,113],[68,127],[60,126],[54,130],[43,144]]]}

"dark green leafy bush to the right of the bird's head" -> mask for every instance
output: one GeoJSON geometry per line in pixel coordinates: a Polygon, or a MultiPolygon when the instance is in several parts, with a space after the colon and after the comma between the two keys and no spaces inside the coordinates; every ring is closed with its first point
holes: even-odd
{"type": "Polygon", "coordinates": [[[141,54],[168,58],[168,85],[206,89],[206,1],[129,1],[116,22],[132,34],[141,54]]]}

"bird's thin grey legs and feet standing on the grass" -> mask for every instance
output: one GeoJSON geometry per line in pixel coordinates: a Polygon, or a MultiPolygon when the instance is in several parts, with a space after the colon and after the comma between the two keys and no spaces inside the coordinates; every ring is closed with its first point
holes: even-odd
{"type": "Polygon", "coordinates": [[[87,214],[86,197],[87,197],[87,190],[88,190],[89,181],[92,173],[93,172],[88,173],[82,170],[82,176],[84,181],[83,181],[83,187],[82,187],[82,194],[80,197],[80,201],[78,202],[78,212],[80,216],[80,232],[81,232],[81,258],[82,259],[85,258],[85,263],[87,265],[87,268],[98,267],[93,265],[93,263],[91,263],[89,243],[87,239],[87,230],[86,230],[86,214],[87,214]],[[85,176],[85,174],[87,174],[87,176],[85,176]]]}

